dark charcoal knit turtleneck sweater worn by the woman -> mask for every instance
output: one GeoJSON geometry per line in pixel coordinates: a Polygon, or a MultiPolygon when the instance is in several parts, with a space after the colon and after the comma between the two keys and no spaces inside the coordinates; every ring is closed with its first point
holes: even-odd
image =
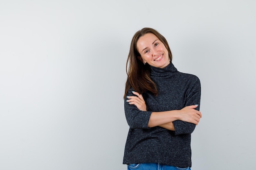
{"type": "MultiPolygon", "coordinates": [[[[157,86],[157,96],[142,94],[147,111],[124,101],[126,120],[130,126],[124,151],[124,164],[162,163],[180,168],[191,167],[191,133],[195,124],[176,120],[175,131],[159,126],[148,128],[153,111],[180,110],[199,105],[201,86],[197,76],[178,72],[173,63],[166,68],[151,67],[150,77],[157,86]]],[[[127,96],[132,96],[132,88],[127,96]]]]}

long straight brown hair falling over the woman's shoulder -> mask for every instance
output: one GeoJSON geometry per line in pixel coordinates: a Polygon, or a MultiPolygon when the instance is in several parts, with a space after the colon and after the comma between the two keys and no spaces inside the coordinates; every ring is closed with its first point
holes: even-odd
{"type": "Polygon", "coordinates": [[[135,92],[138,92],[140,94],[148,91],[155,96],[157,95],[157,87],[150,78],[150,65],[148,65],[148,63],[144,65],[144,63],[138,58],[141,56],[137,50],[137,42],[140,37],[147,33],[154,34],[160,41],[162,41],[168,51],[169,59],[170,61],[172,61],[171,50],[164,36],[162,36],[153,28],[142,28],[141,30],[137,31],[137,33],[135,33],[132,38],[130,44],[130,51],[126,62],[127,80],[124,98],[126,98],[126,94],[131,87],[135,90],[135,92]]]}

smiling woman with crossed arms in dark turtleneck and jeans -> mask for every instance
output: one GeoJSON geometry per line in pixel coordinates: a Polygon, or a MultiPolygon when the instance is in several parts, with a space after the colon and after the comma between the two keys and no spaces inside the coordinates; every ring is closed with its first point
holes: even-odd
{"type": "Polygon", "coordinates": [[[168,43],[156,30],[135,33],[124,95],[128,170],[190,170],[191,133],[202,117],[200,81],[171,61],[168,43]]]}

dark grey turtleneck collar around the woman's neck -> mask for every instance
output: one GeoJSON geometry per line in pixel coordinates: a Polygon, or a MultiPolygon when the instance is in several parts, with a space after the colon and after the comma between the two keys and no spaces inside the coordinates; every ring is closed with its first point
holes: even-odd
{"type": "Polygon", "coordinates": [[[174,67],[173,63],[170,62],[165,68],[157,68],[150,66],[150,76],[168,76],[171,73],[178,72],[177,69],[174,67]]]}

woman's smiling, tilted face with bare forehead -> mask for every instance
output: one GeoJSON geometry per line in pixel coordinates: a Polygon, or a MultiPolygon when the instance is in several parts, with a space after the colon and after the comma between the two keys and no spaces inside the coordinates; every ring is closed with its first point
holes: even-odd
{"type": "Polygon", "coordinates": [[[169,63],[168,51],[162,41],[152,33],[141,36],[137,41],[139,59],[157,68],[165,68],[169,63]]]}

